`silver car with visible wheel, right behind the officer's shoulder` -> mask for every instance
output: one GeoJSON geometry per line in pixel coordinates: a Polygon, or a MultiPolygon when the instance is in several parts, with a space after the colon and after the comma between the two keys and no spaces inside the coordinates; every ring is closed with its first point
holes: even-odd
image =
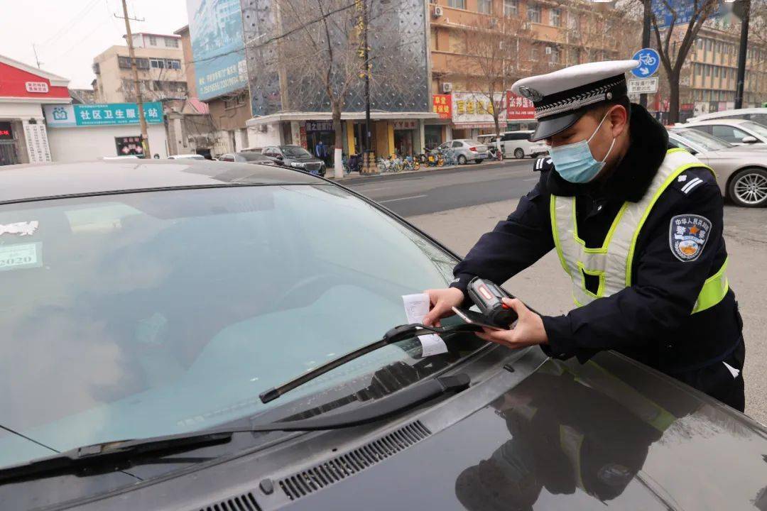
{"type": "Polygon", "coordinates": [[[734,146],[690,128],[670,129],[669,140],[714,169],[722,195],[736,205],[767,205],[767,148],[734,146]]]}

